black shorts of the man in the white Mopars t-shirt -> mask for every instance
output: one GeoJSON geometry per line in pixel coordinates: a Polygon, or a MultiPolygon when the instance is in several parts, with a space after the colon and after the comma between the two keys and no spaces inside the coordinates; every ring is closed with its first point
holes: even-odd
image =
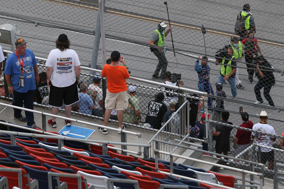
{"type": "Polygon", "coordinates": [[[48,105],[52,107],[62,107],[64,100],[65,106],[70,106],[79,102],[78,95],[78,82],[77,80],[70,86],[67,87],[55,87],[51,84],[49,90],[49,102],[48,105]]]}

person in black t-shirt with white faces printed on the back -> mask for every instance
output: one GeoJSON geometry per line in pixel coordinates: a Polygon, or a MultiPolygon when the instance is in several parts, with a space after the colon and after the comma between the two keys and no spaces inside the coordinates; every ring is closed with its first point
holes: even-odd
{"type": "Polygon", "coordinates": [[[167,106],[163,103],[164,94],[159,92],[155,100],[151,100],[148,105],[148,114],[146,115],[146,123],[149,123],[154,129],[160,129],[162,127],[162,121],[165,113],[167,112],[167,106]]]}

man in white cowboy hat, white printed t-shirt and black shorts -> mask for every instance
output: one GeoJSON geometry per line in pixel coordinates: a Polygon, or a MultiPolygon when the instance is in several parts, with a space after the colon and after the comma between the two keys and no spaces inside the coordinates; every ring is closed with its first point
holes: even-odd
{"type": "MultiPolygon", "coordinates": [[[[258,115],[258,114],[256,114],[258,115]]],[[[270,114],[271,115],[271,114],[270,114]]],[[[267,117],[270,116],[267,115],[266,111],[261,111],[261,113],[258,115],[260,118],[260,122],[254,124],[252,127],[253,130],[265,132],[269,134],[275,134],[274,128],[267,124],[267,117]]],[[[254,139],[254,142],[256,144],[273,147],[272,141],[275,141],[276,138],[268,135],[264,135],[262,133],[251,133],[251,138],[254,139]]],[[[274,152],[272,149],[261,147],[261,163],[265,164],[266,161],[269,162],[268,169],[273,170],[274,165],[274,152]]],[[[258,151],[258,146],[256,146],[256,151],[258,151]]]]}

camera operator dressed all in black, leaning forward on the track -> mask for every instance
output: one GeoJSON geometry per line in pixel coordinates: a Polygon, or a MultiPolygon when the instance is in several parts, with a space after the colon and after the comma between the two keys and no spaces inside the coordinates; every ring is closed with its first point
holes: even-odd
{"type": "Polygon", "coordinates": [[[263,88],[263,95],[264,98],[268,101],[268,106],[275,106],[274,102],[269,94],[271,87],[275,85],[275,77],[273,75],[272,71],[266,71],[266,70],[272,70],[274,69],[273,66],[263,57],[258,57],[257,66],[255,66],[257,70],[256,76],[258,78],[258,82],[254,86],[254,93],[256,96],[256,102],[255,104],[261,104],[263,103],[260,89],[263,88]],[[269,67],[269,68],[262,68],[262,66],[269,67]],[[260,68],[259,68],[260,67],[260,68]]]}

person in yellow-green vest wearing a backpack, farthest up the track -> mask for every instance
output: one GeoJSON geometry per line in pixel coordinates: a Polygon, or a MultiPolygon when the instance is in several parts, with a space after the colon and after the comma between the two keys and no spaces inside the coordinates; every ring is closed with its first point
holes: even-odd
{"type": "Polygon", "coordinates": [[[237,15],[237,19],[240,19],[240,18],[245,18],[249,14],[249,16],[245,19],[245,31],[240,35],[241,40],[245,38],[248,30],[253,30],[254,33],[256,33],[254,17],[249,12],[250,9],[251,9],[251,6],[249,4],[244,4],[243,10],[239,12],[237,15]]]}

